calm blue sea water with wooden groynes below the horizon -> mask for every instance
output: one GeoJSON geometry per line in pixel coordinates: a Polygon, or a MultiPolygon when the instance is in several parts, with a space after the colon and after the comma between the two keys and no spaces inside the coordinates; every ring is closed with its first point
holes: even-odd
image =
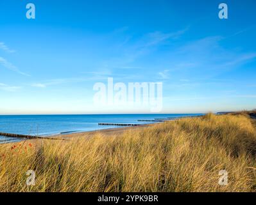
{"type": "MultiPolygon", "coordinates": [[[[122,114],[122,115],[0,115],[0,133],[22,135],[58,135],[114,128],[99,126],[99,122],[149,124],[138,120],[165,119],[203,114],[122,114]]],[[[1,142],[19,141],[17,138],[0,136],[1,142]]]]}

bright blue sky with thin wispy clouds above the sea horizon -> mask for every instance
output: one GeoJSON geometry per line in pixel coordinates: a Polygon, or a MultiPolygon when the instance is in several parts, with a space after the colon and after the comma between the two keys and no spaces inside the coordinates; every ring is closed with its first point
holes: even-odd
{"type": "Polygon", "coordinates": [[[255,19],[253,0],[2,0],[0,114],[149,112],[95,106],[108,77],[162,82],[162,113],[256,108],[255,19]]]}

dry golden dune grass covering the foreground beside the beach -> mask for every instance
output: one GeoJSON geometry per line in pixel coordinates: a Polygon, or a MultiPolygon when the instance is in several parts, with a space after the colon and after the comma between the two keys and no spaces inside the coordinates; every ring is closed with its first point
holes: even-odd
{"type": "Polygon", "coordinates": [[[254,192],[256,131],[246,115],[207,114],[66,142],[0,146],[0,192],[254,192]],[[26,148],[26,149],[25,149],[26,148]],[[220,186],[219,170],[228,172],[220,186]],[[26,171],[35,170],[35,186],[26,171]]]}

